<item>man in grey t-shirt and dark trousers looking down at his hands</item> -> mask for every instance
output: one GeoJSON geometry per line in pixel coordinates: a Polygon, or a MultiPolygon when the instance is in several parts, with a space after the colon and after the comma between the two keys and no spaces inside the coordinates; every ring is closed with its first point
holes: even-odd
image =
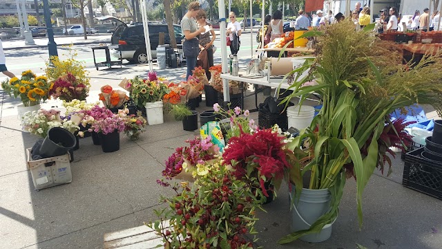
{"type": "Polygon", "coordinates": [[[193,1],[187,6],[187,12],[181,20],[181,29],[184,33],[184,42],[182,44],[184,56],[186,57],[186,80],[192,75],[192,70],[196,66],[196,58],[200,53],[200,43],[197,36],[204,33],[206,30],[204,27],[198,29],[195,17],[200,12],[200,3],[193,1]]]}

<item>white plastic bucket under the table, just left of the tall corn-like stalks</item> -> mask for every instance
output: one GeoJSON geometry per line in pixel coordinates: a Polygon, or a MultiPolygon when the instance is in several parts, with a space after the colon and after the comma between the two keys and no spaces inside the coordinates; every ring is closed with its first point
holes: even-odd
{"type": "Polygon", "coordinates": [[[305,129],[310,126],[315,116],[314,107],[310,106],[293,106],[287,108],[287,120],[289,128],[294,127],[298,130],[305,129]]]}

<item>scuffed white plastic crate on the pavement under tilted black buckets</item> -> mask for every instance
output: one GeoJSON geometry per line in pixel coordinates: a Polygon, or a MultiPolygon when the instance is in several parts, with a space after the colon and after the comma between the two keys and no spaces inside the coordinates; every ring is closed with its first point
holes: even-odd
{"type": "Polygon", "coordinates": [[[69,154],[32,160],[30,151],[30,148],[26,149],[28,154],[28,167],[35,190],[42,190],[46,187],[72,182],[69,154]]]}

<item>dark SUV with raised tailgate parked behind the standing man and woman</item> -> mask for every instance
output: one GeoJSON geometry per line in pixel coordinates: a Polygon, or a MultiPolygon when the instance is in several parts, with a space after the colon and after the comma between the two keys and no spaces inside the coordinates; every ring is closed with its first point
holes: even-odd
{"type": "MultiPolygon", "coordinates": [[[[97,17],[99,19],[99,17],[97,17]]],[[[118,27],[111,37],[111,44],[119,45],[118,48],[111,50],[111,55],[119,59],[126,59],[132,63],[146,63],[148,62],[146,53],[146,44],[144,42],[144,29],[143,24],[125,24],[123,21],[116,19],[115,17],[106,17],[100,19],[105,21],[107,19],[113,19],[113,21],[119,21],[118,27]],[[121,50],[121,57],[119,56],[119,50],[121,50]]],[[[151,41],[151,53],[152,57],[157,57],[157,46],[160,43],[159,34],[164,33],[164,43],[170,44],[169,28],[167,24],[158,22],[149,22],[149,38],[151,41]]],[[[175,39],[177,44],[181,43],[184,38],[181,31],[181,26],[174,24],[173,30],[175,31],[175,39]]]]}

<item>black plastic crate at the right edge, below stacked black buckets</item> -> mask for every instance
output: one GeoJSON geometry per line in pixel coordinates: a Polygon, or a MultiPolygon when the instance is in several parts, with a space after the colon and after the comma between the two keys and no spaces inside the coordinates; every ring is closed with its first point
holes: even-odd
{"type": "Polygon", "coordinates": [[[422,158],[423,149],[405,154],[402,185],[442,200],[442,162],[422,158]]]}

